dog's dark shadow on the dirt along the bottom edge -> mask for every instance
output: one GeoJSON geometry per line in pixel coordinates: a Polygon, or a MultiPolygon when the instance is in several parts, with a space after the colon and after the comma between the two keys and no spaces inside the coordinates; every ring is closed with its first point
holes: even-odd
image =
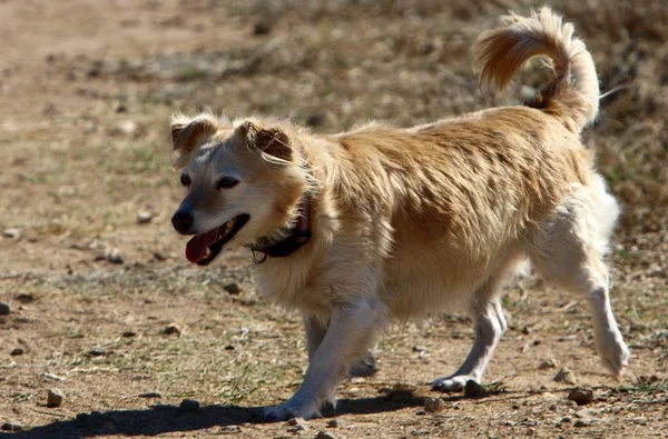
{"type": "MultiPolygon", "coordinates": [[[[346,413],[370,415],[401,410],[424,405],[424,398],[374,397],[341,399],[336,409],[323,415],[336,417],[346,413]]],[[[178,406],[155,405],[140,410],[111,410],[79,413],[76,419],[56,421],[30,430],[12,433],[11,438],[85,438],[96,436],[157,436],[170,431],[196,431],[212,427],[229,428],[244,423],[272,423],[264,417],[265,407],[205,406],[185,410],[178,406]]],[[[230,431],[232,432],[232,431],[230,431]]],[[[0,433],[0,436],[3,436],[0,433]]],[[[9,435],[8,435],[9,436],[9,435]]]]}

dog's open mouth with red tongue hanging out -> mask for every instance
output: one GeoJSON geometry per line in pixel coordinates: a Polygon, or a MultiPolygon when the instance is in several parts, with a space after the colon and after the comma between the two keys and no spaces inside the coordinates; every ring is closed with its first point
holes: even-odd
{"type": "Polygon", "coordinates": [[[186,245],[186,258],[198,266],[209,265],[220,253],[223,246],[242,230],[249,218],[249,214],[242,213],[220,227],[196,235],[186,245]]]}

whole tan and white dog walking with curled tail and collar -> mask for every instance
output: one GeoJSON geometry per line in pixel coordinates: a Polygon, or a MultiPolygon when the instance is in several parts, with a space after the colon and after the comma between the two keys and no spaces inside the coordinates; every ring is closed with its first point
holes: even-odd
{"type": "Polygon", "coordinates": [[[554,77],[524,106],[407,129],[315,136],[281,119],[173,117],[186,194],[171,221],[193,236],[187,259],[249,249],[258,290],[304,322],[305,379],[267,417],[321,416],[346,373],[373,371],[387,321],[453,306],[469,311],[473,346],[432,388],[480,381],[507,329],[501,287],[525,261],[587,299],[603,366],[628,366],[603,262],[619,208],[579,137],[598,112],[591,54],[548,8],[505,17],[474,54],[498,89],[534,56],[554,77]]]}

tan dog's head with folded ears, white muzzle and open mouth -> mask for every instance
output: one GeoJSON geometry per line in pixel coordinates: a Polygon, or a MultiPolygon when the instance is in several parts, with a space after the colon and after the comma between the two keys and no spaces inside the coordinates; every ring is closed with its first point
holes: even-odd
{"type": "Polygon", "coordinates": [[[195,236],[186,245],[190,262],[206,266],[224,246],[253,246],[291,226],[308,176],[289,124],[177,116],[171,139],[185,189],[171,222],[195,236]]]}

